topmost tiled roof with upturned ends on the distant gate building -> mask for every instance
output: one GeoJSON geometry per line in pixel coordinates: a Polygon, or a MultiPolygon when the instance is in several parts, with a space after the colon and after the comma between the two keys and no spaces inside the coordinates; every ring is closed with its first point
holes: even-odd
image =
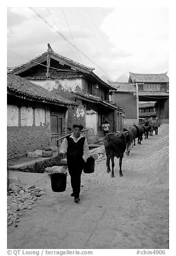
{"type": "Polygon", "coordinates": [[[129,72],[129,82],[132,83],[168,83],[167,72],[163,74],[136,74],[129,72]]]}

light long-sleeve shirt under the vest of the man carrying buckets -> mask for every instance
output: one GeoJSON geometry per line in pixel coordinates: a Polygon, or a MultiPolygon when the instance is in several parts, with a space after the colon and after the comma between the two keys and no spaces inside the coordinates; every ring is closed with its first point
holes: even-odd
{"type": "MultiPolygon", "coordinates": [[[[78,142],[78,140],[80,138],[83,138],[84,136],[82,136],[82,134],[80,134],[80,136],[78,137],[78,139],[76,139],[74,137],[74,134],[71,134],[70,138],[72,138],[74,140],[75,143],[78,142]]],[[[63,140],[63,143],[61,144],[61,148],[60,148],[60,153],[67,153],[67,148],[68,148],[68,141],[66,138],[64,138],[63,140]]],[[[89,154],[89,146],[88,146],[88,143],[87,143],[87,139],[85,138],[84,140],[84,146],[83,146],[83,159],[84,161],[86,162],[87,161],[87,158],[88,158],[88,154],[89,154]]]]}

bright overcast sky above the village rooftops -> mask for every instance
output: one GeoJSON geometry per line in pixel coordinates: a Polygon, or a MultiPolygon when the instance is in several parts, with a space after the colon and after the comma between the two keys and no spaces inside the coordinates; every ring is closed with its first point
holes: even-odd
{"type": "Polygon", "coordinates": [[[8,67],[46,52],[49,42],[54,52],[93,67],[98,76],[108,75],[113,81],[122,74],[128,77],[129,72],[168,71],[166,7],[34,7],[34,10],[91,60],[29,8],[8,8],[8,67]]]}

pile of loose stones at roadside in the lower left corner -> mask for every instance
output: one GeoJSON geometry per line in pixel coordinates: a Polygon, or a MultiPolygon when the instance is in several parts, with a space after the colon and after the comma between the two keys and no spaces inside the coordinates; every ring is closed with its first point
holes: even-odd
{"type": "Polygon", "coordinates": [[[47,193],[45,189],[35,186],[10,184],[8,191],[8,226],[18,226],[19,218],[26,210],[31,210],[34,204],[47,193]]]}

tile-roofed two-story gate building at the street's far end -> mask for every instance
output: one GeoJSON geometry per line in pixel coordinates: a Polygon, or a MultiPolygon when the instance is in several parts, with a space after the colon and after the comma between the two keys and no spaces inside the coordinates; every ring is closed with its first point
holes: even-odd
{"type": "Polygon", "coordinates": [[[138,123],[137,120],[137,101],[136,83],[138,83],[139,101],[155,101],[157,117],[162,123],[168,123],[168,102],[169,102],[169,79],[166,73],[162,74],[136,74],[129,75],[128,83],[111,82],[108,84],[116,87],[111,90],[111,101],[118,102],[124,107],[124,126],[138,123]]]}

